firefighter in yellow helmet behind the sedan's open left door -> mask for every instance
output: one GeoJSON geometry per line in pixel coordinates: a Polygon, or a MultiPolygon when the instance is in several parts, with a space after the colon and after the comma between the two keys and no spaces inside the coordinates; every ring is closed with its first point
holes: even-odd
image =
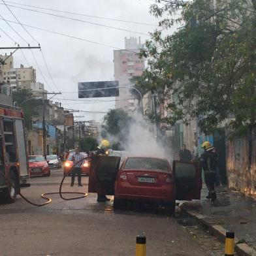
{"type": "MultiPolygon", "coordinates": [[[[110,147],[110,142],[108,140],[102,140],[101,143],[99,144],[99,146],[97,147],[97,154],[99,155],[108,155],[108,149],[110,147]]],[[[106,201],[110,201],[110,199],[108,199],[106,197],[106,191],[104,189],[105,185],[104,185],[104,180],[100,180],[99,177],[97,177],[97,202],[106,202],[106,201]]]]}

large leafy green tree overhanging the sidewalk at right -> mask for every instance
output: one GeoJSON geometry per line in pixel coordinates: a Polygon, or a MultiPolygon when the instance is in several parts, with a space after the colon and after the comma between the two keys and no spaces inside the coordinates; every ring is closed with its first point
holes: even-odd
{"type": "Polygon", "coordinates": [[[148,68],[139,86],[168,102],[168,123],[200,118],[210,133],[227,118],[243,133],[256,124],[256,1],[157,0],[165,17],[140,52],[148,68]],[[178,24],[172,35],[163,29],[178,24]]]}

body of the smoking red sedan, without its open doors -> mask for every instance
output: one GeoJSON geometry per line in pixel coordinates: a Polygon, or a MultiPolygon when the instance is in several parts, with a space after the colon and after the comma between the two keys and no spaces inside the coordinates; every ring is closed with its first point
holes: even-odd
{"type": "Polygon", "coordinates": [[[127,157],[116,178],[114,206],[124,200],[165,204],[174,212],[176,184],[167,159],[127,157]]]}

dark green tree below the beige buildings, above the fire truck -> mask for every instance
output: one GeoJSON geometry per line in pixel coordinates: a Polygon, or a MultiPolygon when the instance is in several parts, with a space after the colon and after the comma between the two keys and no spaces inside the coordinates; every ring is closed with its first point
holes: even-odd
{"type": "Polygon", "coordinates": [[[32,118],[38,116],[36,108],[40,104],[39,101],[35,100],[29,100],[24,103],[24,101],[31,99],[32,97],[33,94],[27,89],[20,89],[12,93],[13,101],[24,110],[25,128],[27,130],[32,129],[32,118]]]}

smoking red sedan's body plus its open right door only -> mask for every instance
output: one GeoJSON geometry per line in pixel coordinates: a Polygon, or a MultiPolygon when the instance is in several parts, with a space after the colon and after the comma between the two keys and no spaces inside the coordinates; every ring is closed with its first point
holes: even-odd
{"type": "Polygon", "coordinates": [[[114,207],[125,200],[164,204],[169,214],[178,200],[200,199],[202,179],[196,163],[174,161],[173,171],[166,159],[127,157],[116,176],[114,207]]]}

